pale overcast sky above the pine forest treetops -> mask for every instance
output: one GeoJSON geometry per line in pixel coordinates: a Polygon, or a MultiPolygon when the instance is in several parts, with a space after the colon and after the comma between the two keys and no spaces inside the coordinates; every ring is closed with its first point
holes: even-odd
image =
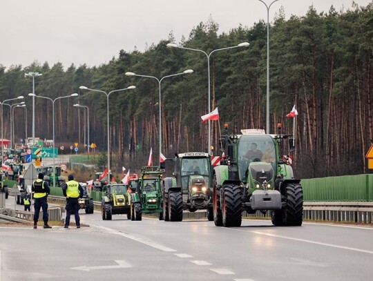
{"type": "MultiPolygon", "coordinates": [[[[354,1],[367,6],[372,0],[354,1]]],[[[332,5],[339,11],[351,8],[352,0],[279,0],[269,10],[269,21],[281,6],[289,19],[305,15],[312,4],[318,12],[332,5]]],[[[99,66],[119,50],[144,51],[170,32],[179,43],[210,15],[220,34],[267,21],[267,8],[258,0],[0,0],[0,64],[99,66]]]]}

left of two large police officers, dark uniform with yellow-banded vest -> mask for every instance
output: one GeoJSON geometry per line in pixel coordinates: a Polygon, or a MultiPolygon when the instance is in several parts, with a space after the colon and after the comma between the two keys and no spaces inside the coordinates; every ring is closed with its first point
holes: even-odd
{"type": "Polygon", "coordinates": [[[43,209],[44,229],[51,229],[48,225],[48,202],[47,197],[50,193],[48,182],[44,182],[44,173],[37,175],[37,180],[32,183],[31,191],[34,193],[35,214],[34,214],[34,229],[37,229],[37,221],[39,220],[40,208],[43,209]]]}

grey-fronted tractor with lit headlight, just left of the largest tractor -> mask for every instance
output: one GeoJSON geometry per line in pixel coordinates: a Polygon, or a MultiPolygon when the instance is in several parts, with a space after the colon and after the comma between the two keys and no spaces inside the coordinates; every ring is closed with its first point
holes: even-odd
{"type": "Polygon", "coordinates": [[[173,177],[163,181],[163,218],[181,222],[182,211],[207,210],[213,220],[211,157],[208,153],[179,153],[173,159],[173,177]]]}

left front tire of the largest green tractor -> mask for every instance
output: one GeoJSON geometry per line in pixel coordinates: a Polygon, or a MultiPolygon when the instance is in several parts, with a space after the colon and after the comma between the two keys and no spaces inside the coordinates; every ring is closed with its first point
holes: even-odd
{"type": "Polygon", "coordinates": [[[235,184],[225,184],[222,186],[222,191],[223,226],[241,226],[242,196],[240,187],[235,184]]]}

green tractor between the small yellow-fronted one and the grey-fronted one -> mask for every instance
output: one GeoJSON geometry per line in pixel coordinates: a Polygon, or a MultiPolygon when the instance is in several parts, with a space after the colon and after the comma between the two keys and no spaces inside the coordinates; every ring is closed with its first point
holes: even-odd
{"type": "Polygon", "coordinates": [[[160,166],[144,166],[141,169],[140,199],[142,213],[159,213],[163,220],[162,171],[160,166]]]}

